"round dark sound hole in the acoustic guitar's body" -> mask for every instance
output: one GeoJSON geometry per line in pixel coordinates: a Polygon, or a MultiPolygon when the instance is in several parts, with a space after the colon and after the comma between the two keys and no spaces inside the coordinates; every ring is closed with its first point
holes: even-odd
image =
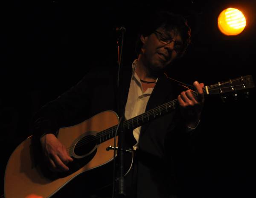
{"type": "Polygon", "coordinates": [[[85,136],[76,143],[74,153],[77,156],[83,156],[89,153],[96,146],[95,136],[85,136]]]}

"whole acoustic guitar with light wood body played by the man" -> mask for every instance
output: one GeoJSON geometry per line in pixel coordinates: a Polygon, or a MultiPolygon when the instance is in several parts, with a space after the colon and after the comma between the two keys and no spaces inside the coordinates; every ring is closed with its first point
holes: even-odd
{"type": "MultiPolygon", "coordinates": [[[[205,95],[227,92],[236,94],[236,91],[253,87],[252,76],[248,75],[205,86],[203,91],[205,95]]],[[[197,91],[193,94],[198,95],[197,91]]],[[[122,123],[123,129],[137,128],[177,107],[177,99],[167,102],[139,116],[125,120],[122,123]]],[[[109,150],[108,147],[113,146],[118,122],[119,118],[115,112],[104,111],[80,124],[61,128],[58,132],[58,139],[74,159],[67,173],[50,173],[45,166],[38,163],[34,156],[42,156],[42,154],[35,155],[36,150],[32,144],[32,136],[30,136],[13,151],[9,158],[4,179],[5,198],[26,198],[29,195],[49,198],[81,173],[108,164],[113,160],[113,150],[109,150]]]]}

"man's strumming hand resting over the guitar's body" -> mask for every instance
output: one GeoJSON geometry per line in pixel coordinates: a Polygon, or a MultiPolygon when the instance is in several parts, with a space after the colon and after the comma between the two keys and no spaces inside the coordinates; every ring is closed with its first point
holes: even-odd
{"type": "Polygon", "coordinates": [[[73,158],[69,156],[66,148],[54,134],[46,134],[40,139],[44,157],[50,170],[55,173],[68,171],[66,166],[73,158]]]}

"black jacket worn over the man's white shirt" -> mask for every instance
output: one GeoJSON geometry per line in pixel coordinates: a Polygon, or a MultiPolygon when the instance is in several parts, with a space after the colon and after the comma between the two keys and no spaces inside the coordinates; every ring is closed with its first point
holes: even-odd
{"type": "MultiPolygon", "coordinates": [[[[128,97],[131,67],[122,68],[119,93],[116,74],[114,68],[95,68],[88,72],[76,86],[42,107],[34,116],[34,136],[57,135],[60,127],[78,124],[105,110],[113,110],[121,116],[128,97]]],[[[160,76],[146,111],[177,99],[181,91],[184,91],[183,86],[165,75],[160,76]]],[[[189,153],[190,138],[179,110],[143,125],[137,166],[138,198],[167,198],[178,193],[178,163],[175,160],[180,161],[180,156],[189,153]]]]}

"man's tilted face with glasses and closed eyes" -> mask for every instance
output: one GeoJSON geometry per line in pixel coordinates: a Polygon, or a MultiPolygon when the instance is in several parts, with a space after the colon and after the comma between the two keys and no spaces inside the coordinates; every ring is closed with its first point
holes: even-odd
{"type": "Polygon", "coordinates": [[[153,72],[162,71],[169,65],[183,48],[180,33],[176,30],[157,30],[148,37],[141,36],[143,42],[143,64],[153,72]]]}

